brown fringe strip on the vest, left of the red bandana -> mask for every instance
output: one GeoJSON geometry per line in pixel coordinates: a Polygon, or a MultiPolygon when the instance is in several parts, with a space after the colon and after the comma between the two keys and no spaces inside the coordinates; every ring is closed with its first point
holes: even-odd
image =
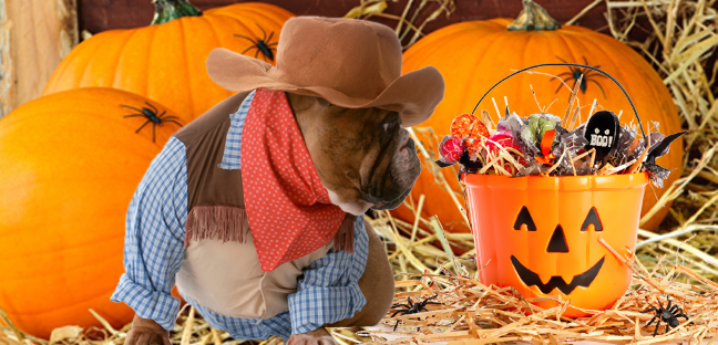
{"type": "Polygon", "coordinates": [[[187,215],[185,224],[185,248],[189,241],[205,239],[222,240],[223,243],[246,240],[249,227],[246,226],[247,213],[234,206],[195,206],[187,215]]]}

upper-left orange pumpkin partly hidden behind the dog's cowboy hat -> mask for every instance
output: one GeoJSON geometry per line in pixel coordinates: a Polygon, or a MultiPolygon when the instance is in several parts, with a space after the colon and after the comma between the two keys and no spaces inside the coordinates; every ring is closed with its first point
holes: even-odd
{"type": "Polygon", "coordinates": [[[279,31],[294,17],[267,3],[237,3],[204,13],[186,0],[154,3],[152,25],[104,31],[73,49],[43,94],[115,87],[197,117],[233,94],[207,75],[209,52],[220,46],[274,63],[279,31]]]}

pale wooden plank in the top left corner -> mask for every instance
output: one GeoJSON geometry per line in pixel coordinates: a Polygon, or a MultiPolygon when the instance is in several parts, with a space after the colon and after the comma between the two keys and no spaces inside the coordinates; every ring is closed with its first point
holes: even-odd
{"type": "Polygon", "coordinates": [[[0,0],[0,117],[40,96],[76,44],[76,0],[0,0]]]}

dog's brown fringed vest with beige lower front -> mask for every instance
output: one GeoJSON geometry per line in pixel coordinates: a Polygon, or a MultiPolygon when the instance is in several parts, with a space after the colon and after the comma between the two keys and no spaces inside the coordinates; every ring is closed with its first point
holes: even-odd
{"type": "Polygon", "coordinates": [[[219,168],[229,115],[246,96],[225,100],[175,134],[186,147],[188,194],[186,251],[175,278],[186,299],[217,314],[266,320],[288,309],[302,270],[330,247],[261,271],[248,236],[242,171],[219,168]]]}

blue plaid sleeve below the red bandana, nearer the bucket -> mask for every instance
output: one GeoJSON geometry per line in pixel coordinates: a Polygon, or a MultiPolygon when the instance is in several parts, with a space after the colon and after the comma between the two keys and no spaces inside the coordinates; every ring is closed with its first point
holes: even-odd
{"type": "Polygon", "coordinates": [[[350,318],[367,304],[359,289],[369,255],[369,237],[363,216],[355,222],[353,254],[330,251],[304,269],[297,292],[289,295],[291,334],[315,331],[350,318]]]}

